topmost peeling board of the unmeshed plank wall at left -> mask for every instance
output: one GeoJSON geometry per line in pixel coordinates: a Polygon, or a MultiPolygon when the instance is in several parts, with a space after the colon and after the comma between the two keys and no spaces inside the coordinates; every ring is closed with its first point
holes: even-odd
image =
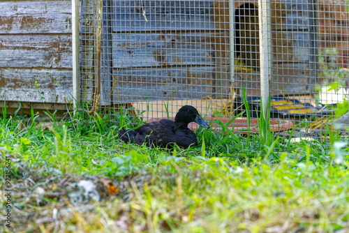
{"type": "Polygon", "coordinates": [[[0,34],[71,33],[71,1],[1,1],[0,34]]]}

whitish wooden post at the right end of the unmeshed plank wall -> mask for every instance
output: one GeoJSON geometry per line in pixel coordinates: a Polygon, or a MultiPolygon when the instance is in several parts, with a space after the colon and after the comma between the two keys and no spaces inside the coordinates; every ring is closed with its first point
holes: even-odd
{"type": "Polygon", "coordinates": [[[72,0],[72,38],[73,38],[73,107],[74,112],[80,105],[80,39],[79,39],[79,0],[72,0]]]}

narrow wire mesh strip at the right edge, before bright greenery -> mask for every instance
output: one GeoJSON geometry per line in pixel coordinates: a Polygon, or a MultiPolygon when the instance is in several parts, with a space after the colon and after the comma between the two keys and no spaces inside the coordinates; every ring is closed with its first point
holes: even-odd
{"type": "Polygon", "coordinates": [[[318,79],[312,94],[315,104],[325,108],[325,113],[313,117],[310,128],[318,130],[320,137],[328,134],[325,121],[329,121],[329,130],[348,136],[348,6],[348,1],[321,0],[315,8],[318,79]]]}

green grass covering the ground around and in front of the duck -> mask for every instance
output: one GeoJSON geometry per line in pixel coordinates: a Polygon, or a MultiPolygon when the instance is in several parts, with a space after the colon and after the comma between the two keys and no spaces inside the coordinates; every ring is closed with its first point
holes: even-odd
{"type": "MultiPolygon", "coordinates": [[[[267,144],[200,128],[198,146],[166,151],[120,142],[121,127],[142,121],[126,110],[114,115],[50,115],[50,126],[34,112],[1,118],[0,146],[13,159],[15,232],[349,231],[349,150],[337,135],[327,152],[321,142],[267,144]],[[119,193],[108,194],[101,177],[119,193]],[[101,200],[70,203],[81,179],[96,183],[101,200]]],[[[5,183],[1,176],[1,190],[5,183]]]]}

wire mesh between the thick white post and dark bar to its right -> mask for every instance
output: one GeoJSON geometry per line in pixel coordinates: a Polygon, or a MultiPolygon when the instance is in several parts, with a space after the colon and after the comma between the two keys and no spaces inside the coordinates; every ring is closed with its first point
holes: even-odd
{"type": "MultiPolygon", "coordinates": [[[[294,135],[318,137],[314,119],[327,114],[315,103],[318,82],[317,20],[313,0],[281,1],[271,4],[272,77],[269,80],[271,116],[290,119],[294,135]]],[[[284,133],[283,133],[284,134],[284,133]]]]}

